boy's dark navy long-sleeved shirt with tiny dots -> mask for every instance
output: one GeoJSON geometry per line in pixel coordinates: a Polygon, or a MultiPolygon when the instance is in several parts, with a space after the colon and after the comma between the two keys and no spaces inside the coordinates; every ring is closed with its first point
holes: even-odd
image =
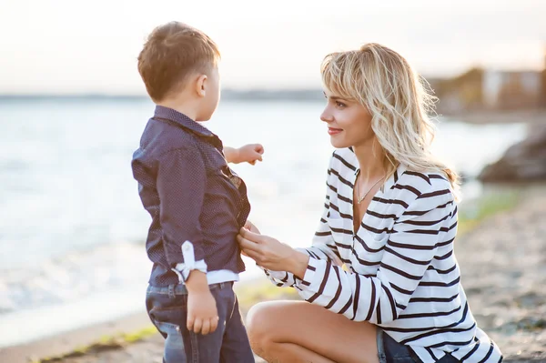
{"type": "Polygon", "coordinates": [[[142,204],[152,217],[146,243],[154,262],[152,286],[178,283],[171,268],[184,262],[181,246],[186,241],[208,271],[245,270],[236,237],[250,212],[247,187],[227,166],[216,135],[173,109],[157,106],[131,166],[142,204]]]}

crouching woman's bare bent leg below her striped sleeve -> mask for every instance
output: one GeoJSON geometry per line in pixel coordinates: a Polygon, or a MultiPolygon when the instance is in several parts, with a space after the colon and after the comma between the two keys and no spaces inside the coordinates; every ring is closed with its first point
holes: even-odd
{"type": "Polygon", "coordinates": [[[292,343],[336,362],[378,363],[376,327],[304,301],[260,303],[248,313],[255,348],[292,343]]]}

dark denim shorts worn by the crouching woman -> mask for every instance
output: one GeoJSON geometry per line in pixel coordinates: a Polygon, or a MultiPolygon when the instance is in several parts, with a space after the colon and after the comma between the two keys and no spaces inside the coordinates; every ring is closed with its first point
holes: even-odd
{"type": "MultiPolygon", "coordinates": [[[[379,363],[422,363],[413,350],[390,338],[381,328],[378,328],[378,354],[379,363]]],[[[460,360],[448,353],[437,363],[460,363],[460,360]]]]}

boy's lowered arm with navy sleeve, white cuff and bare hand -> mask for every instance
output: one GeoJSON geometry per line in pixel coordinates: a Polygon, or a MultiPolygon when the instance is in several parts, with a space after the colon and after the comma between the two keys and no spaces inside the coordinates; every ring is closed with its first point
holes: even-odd
{"type": "Polygon", "coordinates": [[[187,329],[197,334],[215,331],[218,322],[216,300],[208,289],[199,223],[206,185],[207,170],[197,149],[172,150],[159,159],[157,194],[163,247],[169,267],[186,284],[187,329]]]}

